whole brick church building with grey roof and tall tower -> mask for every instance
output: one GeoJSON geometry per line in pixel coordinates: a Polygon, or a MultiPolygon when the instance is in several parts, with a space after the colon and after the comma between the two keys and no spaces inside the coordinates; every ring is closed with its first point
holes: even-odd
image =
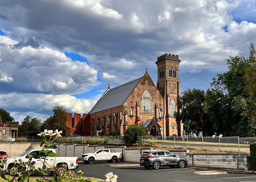
{"type": "Polygon", "coordinates": [[[135,80],[105,91],[89,114],[83,116],[84,135],[99,136],[116,130],[123,136],[131,124],[138,124],[148,135],[181,136],[182,123],[176,123],[174,112],[180,96],[178,55],[164,54],[157,58],[157,86],[145,74],[135,80]]]}

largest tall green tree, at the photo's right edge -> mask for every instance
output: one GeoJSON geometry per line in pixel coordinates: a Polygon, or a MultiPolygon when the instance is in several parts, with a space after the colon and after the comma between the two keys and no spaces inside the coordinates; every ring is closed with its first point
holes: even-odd
{"type": "MultiPolygon", "coordinates": [[[[253,88],[255,88],[255,48],[250,45],[250,56],[248,59],[244,57],[232,57],[227,60],[228,71],[223,74],[217,74],[213,78],[211,86],[213,90],[208,92],[206,99],[207,112],[211,115],[211,119],[217,119],[220,131],[227,135],[252,137],[256,135],[255,118],[255,101],[253,100],[253,88]],[[252,88],[252,89],[251,89],[252,88]],[[220,92],[223,95],[219,94],[220,92]],[[210,111],[214,109],[210,107],[210,95],[215,97],[220,103],[217,104],[225,110],[223,115],[210,111]],[[209,102],[209,103],[208,103],[209,102]],[[210,109],[211,108],[211,109],[210,109]],[[227,110],[228,109],[228,110],[227,110]],[[223,126],[220,126],[221,121],[223,126]],[[222,129],[221,129],[222,128],[222,129]]],[[[215,108],[216,109],[216,108],[215,108]]],[[[217,126],[215,125],[215,126],[217,126]]]]}

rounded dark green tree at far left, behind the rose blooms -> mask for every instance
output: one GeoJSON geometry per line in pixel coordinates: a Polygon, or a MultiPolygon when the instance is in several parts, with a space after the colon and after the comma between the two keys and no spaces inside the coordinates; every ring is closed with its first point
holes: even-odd
{"type": "Polygon", "coordinates": [[[41,132],[41,119],[27,116],[19,126],[19,135],[33,136],[41,132]]]}

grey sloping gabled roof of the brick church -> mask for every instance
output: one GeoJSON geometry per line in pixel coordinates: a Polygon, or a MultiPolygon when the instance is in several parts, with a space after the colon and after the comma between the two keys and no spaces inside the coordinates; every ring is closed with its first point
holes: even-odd
{"type": "Polygon", "coordinates": [[[109,89],[99,99],[99,101],[91,109],[89,114],[93,114],[95,112],[99,112],[99,111],[103,111],[106,109],[123,105],[124,101],[128,98],[128,96],[133,91],[133,88],[135,88],[138,85],[138,83],[142,78],[143,76],[135,80],[132,80],[130,82],[124,83],[120,86],[109,89]]]}

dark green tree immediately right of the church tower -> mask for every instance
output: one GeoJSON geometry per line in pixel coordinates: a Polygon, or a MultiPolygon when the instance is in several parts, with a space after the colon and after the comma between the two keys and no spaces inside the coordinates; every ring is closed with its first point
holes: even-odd
{"type": "Polygon", "coordinates": [[[188,88],[183,91],[181,98],[178,100],[178,107],[181,108],[181,113],[175,113],[176,121],[182,120],[184,130],[187,134],[203,132],[203,135],[208,135],[211,130],[210,120],[204,111],[204,91],[201,89],[188,88]]]}

